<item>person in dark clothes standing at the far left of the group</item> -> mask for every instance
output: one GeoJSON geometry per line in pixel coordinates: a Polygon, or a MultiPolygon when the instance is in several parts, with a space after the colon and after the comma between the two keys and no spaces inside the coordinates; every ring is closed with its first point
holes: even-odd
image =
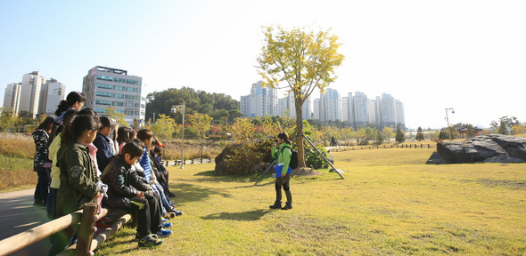
{"type": "Polygon", "coordinates": [[[49,133],[53,123],[53,117],[45,117],[44,122],[39,124],[32,134],[36,146],[33,171],[37,172],[38,175],[37,188],[35,188],[35,203],[33,203],[35,206],[45,206],[47,202],[47,193],[49,192],[49,182],[51,180],[46,172],[46,169],[51,168],[50,161],[47,159],[47,140],[49,140],[49,133]]]}

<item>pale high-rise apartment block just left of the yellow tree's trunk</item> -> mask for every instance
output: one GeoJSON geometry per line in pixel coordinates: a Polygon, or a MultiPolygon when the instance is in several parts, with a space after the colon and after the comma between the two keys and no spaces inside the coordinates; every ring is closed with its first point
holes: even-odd
{"type": "Polygon", "coordinates": [[[274,88],[263,86],[259,81],[252,84],[251,94],[241,96],[239,102],[240,112],[245,117],[252,116],[277,116],[277,91],[274,88]]]}

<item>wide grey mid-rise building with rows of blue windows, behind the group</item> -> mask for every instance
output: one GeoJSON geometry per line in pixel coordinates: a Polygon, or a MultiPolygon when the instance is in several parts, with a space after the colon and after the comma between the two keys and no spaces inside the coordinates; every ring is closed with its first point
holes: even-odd
{"type": "Polygon", "coordinates": [[[86,108],[104,115],[104,108],[115,108],[125,114],[125,120],[132,124],[137,118],[144,123],[146,99],[143,96],[143,78],[128,76],[127,70],[95,67],[84,76],[82,93],[86,95],[86,108]]]}

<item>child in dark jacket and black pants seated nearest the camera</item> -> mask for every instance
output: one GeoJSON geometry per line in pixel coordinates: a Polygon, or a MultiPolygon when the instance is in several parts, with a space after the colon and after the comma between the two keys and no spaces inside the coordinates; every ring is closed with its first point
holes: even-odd
{"type": "Polygon", "coordinates": [[[148,185],[132,170],[132,165],[143,156],[143,147],[138,140],[128,141],[122,147],[120,155],[106,166],[101,179],[109,186],[108,199],[104,204],[127,212],[137,211],[136,237],[139,237],[139,246],[153,247],[162,244],[163,240],[159,237],[169,236],[172,232],[163,228],[159,201],[155,196],[144,193],[148,190],[148,185]]]}

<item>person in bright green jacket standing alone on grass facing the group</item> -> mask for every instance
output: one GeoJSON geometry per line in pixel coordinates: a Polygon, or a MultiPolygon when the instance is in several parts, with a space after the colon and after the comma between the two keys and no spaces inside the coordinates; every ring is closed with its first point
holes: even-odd
{"type": "Polygon", "coordinates": [[[289,140],[289,134],[286,132],[279,133],[277,135],[277,142],[272,144],[272,157],[277,158],[277,164],[283,164],[281,176],[276,173],[275,177],[275,202],[270,205],[270,209],[292,209],[292,193],[291,193],[291,174],[292,168],[290,166],[292,158],[292,143],[289,140]],[[287,196],[287,202],[285,206],[281,207],[281,188],[284,188],[285,196],[287,196]]]}

